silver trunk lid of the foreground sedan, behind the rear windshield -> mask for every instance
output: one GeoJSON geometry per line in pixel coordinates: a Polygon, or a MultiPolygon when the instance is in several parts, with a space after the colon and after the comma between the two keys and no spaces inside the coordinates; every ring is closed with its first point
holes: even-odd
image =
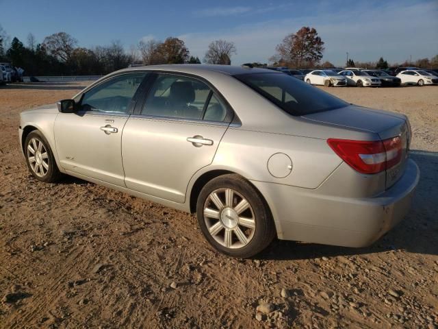
{"type": "MultiPolygon", "coordinates": [[[[411,142],[409,122],[403,114],[350,105],[345,108],[305,115],[303,118],[329,125],[374,132],[382,141],[400,136],[402,141],[402,158],[398,164],[386,170],[386,188],[394,185],[402,176],[411,142]]],[[[333,138],[336,138],[336,136],[333,136],[333,138]]]]}

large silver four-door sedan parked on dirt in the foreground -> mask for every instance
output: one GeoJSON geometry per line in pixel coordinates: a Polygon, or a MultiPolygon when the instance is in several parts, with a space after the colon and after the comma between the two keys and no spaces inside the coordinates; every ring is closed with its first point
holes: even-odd
{"type": "Polygon", "coordinates": [[[73,175],[196,212],[235,257],[274,237],[370,245],[406,215],[420,175],[407,117],[265,69],[124,69],[22,112],[19,132],[37,180],[73,175]]]}

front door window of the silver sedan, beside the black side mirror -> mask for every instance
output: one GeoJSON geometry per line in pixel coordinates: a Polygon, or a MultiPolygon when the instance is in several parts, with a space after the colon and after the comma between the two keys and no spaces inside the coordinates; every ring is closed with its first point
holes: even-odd
{"type": "Polygon", "coordinates": [[[146,73],[118,75],[88,90],[82,97],[81,110],[127,113],[132,97],[146,73]]]}

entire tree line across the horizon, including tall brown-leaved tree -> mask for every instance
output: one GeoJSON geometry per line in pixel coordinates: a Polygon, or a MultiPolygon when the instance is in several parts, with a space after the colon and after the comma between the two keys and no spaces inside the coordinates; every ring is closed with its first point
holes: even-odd
{"type": "MultiPolygon", "coordinates": [[[[321,63],[324,41],[313,27],[302,27],[296,33],[288,34],[276,46],[276,53],[269,60],[274,66],[287,66],[295,69],[331,68],[334,65],[321,63]]],[[[233,42],[214,40],[207,46],[203,62],[207,64],[231,64],[231,57],[237,53],[233,42]]],[[[0,62],[25,69],[25,75],[105,75],[129,64],[201,64],[198,57],[191,56],[184,41],[168,37],[160,40],[140,40],[131,45],[128,51],[120,40],[106,46],[92,48],[78,47],[77,40],[66,32],[51,34],[37,43],[33,34],[27,37],[27,45],[18,38],[9,42],[9,37],[0,25],[0,62]],[[5,47],[7,45],[9,47],[5,47]],[[10,45],[9,45],[10,44],[10,45]]],[[[253,66],[266,66],[258,62],[253,66]]],[[[346,66],[359,66],[368,69],[387,69],[389,66],[437,67],[438,55],[422,58],[415,62],[405,61],[389,65],[380,58],[376,62],[348,60],[346,66]]]]}

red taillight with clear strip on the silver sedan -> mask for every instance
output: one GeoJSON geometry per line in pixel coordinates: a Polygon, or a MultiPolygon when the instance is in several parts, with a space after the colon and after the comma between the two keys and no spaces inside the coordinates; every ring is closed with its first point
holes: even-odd
{"type": "Polygon", "coordinates": [[[352,141],[329,138],[329,146],[359,173],[380,173],[394,167],[402,158],[400,136],[385,141],[352,141]]]}

